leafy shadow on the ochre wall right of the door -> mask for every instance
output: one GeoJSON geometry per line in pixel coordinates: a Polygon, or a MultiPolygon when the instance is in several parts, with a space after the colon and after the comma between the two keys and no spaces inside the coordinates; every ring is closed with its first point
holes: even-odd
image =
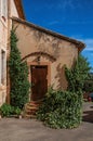
{"type": "Polygon", "coordinates": [[[55,79],[57,79],[57,86],[56,88],[58,90],[65,90],[67,88],[67,80],[65,76],[65,65],[62,66],[61,63],[56,67],[56,76],[55,79]]]}

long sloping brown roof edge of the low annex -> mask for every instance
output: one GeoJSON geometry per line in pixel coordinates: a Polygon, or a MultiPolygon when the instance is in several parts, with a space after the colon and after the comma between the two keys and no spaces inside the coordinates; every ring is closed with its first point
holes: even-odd
{"type": "Polygon", "coordinates": [[[27,25],[27,26],[29,26],[29,27],[34,27],[34,28],[36,28],[36,29],[38,29],[38,30],[41,30],[41,31],[43,31],[43,33],[46,33],[46,34],[49,34],[49,35],[52,35],[52,36],[55,36],[55,37],[57,37],[57,38],[64,39],[64,40],[66,40],[66,41],[69,41],[69,42],[71,42],[71,43],[75,43],[76,47],[78,48],[78,51],[79,51],[79,52],[81,52],[81,51],[85,48],[85,44],[84,44],[82,41],[78,41],[78,40],[76,40],[76,39],[72,39],[72,38],[66,37],[66,36],[64,36],[64,35],[61,35],[61,34],[58,34],[58,33],[49,30],[49,29],[43,28],[43,27],[41,27],[41,26],[35,25],[35,24],[32,24],[32,23],[29,23],[29,22],[27,22],[27,21],[25,21],[25,20],[21,20],[21,18],[14,17],[14,16],[11,17],[11,18],[12,18],[13,21],[18,22],[18,23],[25,24],[25,25],[27,25]]]}

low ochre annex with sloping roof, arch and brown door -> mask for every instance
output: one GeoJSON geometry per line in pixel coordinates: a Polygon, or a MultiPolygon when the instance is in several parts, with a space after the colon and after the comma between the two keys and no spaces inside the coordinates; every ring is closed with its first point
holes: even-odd
{"type": "Polygon", "coordinates": [[[65,65],[71,68],[84,44],[16,17],[12,18],[22,60],[29,69],[30,100],[42,99],[50,86],[65,90],[65,65]]]}

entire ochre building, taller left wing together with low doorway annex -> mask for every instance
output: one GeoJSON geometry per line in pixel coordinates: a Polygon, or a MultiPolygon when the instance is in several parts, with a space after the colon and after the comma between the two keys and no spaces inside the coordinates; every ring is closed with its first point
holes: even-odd
{"type": "Polygon", "coordinates": [[[66,89],[64,65],[74,66],[84,44],[25,21],[22,0],[0,0],[0,105],[10,103],[10,31],[17,26],[17,47],[27,61],[30,100],[39,100],[50,86],[66,89]]]}

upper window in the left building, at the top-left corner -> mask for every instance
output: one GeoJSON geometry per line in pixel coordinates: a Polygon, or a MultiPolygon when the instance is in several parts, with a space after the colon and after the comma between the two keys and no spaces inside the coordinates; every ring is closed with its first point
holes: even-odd
{"type": "Polygon", "coordinates": [[[1,17],[5,21],[8,15],[8,0],[0,0],[1,17]]]}

